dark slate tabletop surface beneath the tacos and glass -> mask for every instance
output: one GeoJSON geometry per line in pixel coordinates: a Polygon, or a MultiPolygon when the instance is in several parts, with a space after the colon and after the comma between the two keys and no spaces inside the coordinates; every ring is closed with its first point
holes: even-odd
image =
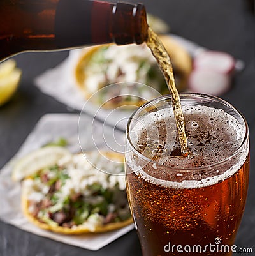
{"type": "MultiPolygon", "coordinates": [[[[135,3],[135,1],[132,1],[135,3]]],[[[251,175],[244,218],[236,245],[255,252],[255,59],[254,15],[249,0],[143,0],[147,11],[158,15],[171,31],[212,50],[224,50],[245,61],[245,70],[233,80],[222,98],[235,105],[247,119],[251,139],[251,175]]],[[[70,112],[61,103],[34,87],[33,79],[60,63],[68,52],[29,53],[15,57],[23,70],[18,93],[0,108],[0,167],[18,151],[34,124],[49,112],[70,112]]],[[[135,230],[97,252],[57,243],[0,221],[1,256],[141,255],[135,230]]],[[[249,255],[249,253],[238,253],[249,255]]]]}

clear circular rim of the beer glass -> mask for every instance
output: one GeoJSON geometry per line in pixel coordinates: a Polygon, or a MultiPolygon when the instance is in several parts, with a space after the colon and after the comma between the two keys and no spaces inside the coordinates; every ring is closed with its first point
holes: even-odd
{"type": "MultiPolygon", "coordinates": [[[[214,100],[214,102],[221,103],[221,105],[226,105],[230,109],[234,110],[241,117],[241,119],[244,121],[244,126],[245,126],[244,139],[243,139],[242,143],[240,144],[240,146],[238,147],[238,149],[235,151],[235,153],[231,154],[231,156],[228,156],[227,158],[225,158],[225,159],[223,159],[223,160],[221,160],[219,162],[215,162],[215,163],[212,163],[210,165],[203,165],[203,166],[200,166],[200,167],[172,167],[172,166],[169,166],[169,165],[164,165],[164,168],[169,169],[169,170],[182,171],[182,172],[194,172],[194,170],[205,170],[205,169],[208,169],[208,168],[212,168],[213,169],[213,168],[215,168],[215,167],[217,167],[219,165],[222,165],[222,164],[228,162],[231,158],[237,156],[237,154],[240,152],[240,150],[242,150],[242,147],[244,147],[244,144],[249,139],[249,127],[248,127],[248,124],[247,124],[247,121],[246,121],[244,115],[239,110],[237,110],[235,107],[233,107],[233,105],[231,105],[231,103],[227,102],[226,100],[222,100],[221,98],[219,98],[217,96],[213,96],[213,95],[210,95],[210,94],[203,94],[203,93],[180,93],[181,103],[182,103],[182,98],[185,98],[185,97],[186,98],[187,97],[189,97],[189,98],[195,98],[195,97],[207,98],[207,99],[210,99],[210,100],[214,100]]],[[[141,112],[143,109],[145,109],[147,106],[149,106],[152,103],[154,103],[154,105],[155,105],[155,103],[159,102],[159,100],[160,101],[171,100],[171,98],[172,98],[171,94],[166,94],[166,95],[154,98],[154,99],[150,100],[149,102],[144,103],[143,105],[138,107],[138,109],[136,109],[131,114],[131,116],[128,119],[128,124],[126,126],[126,132],[125,132],[126,133],[126,140],[127,140],[127,143],[129,143],[129,145],[131,146],[131,150],[135,151],[136,154],[138,155],[138,157],[142,158],[142,160],[145,160],[146,162],[150,162],[152,164],[156,164],[158,167],[161,167],[161,165],[159,165],[159,163],[157,161],[154,161],[154,160],[152,160],[150,158],[147,158],[147,156],[144,156],[143,154],[141,154],[135,148],[135,146],[131,142],[131,138],[129,136],[129,130],[130,130],[131,121],[133,120],[133,118],[135,117],[136,114],[141,112]]],[[[249,154],[249,149],[248,149],[247,155],[248,154],[249,154]]],[[[245,156],[245,159],[246,158],[247,158],[247,156],[245,156]]]]}

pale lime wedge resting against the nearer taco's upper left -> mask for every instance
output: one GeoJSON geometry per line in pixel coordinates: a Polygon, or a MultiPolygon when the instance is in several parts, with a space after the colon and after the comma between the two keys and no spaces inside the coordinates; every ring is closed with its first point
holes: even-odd
{"type": "Polygon", "coordinates": [[[59,159],[71,153],[63,147],[42,147],[18,160],[12,171],[14,181],[36,174],[39,170],[57,164],[59,159]]]}

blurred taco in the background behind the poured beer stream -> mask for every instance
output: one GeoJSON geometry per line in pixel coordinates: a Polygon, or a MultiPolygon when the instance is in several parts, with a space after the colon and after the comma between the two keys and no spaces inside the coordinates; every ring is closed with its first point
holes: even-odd
{"type": "MultiPolygon", "coordinates": [[[[191,57],[170,36],[162,36],[161,40],[171,56],[177,88],[179,91],[184,91],[187,77],[192,69],[191,57]]],[[[118,82],[138,82],[154,88],[161,94],[169,93],[163,74],[145,44],[121,46],[110,44],[85,48],[80,53],[74,73],[76,84],[85,99],[91,97],[99,89],[118,82]]],[[[133,86],[128,88],[128,93],[127,87],[122,87],[121,84],[119,87],[119,95],[129,94],[136,95],[136,97],[113,98],[111,104],[104,105],[104,107],[118,107],[128,102],[141,105],[144,103],[142,98],[147,98],[147,100],[155,98],[153,91],[148,90],[146,86],[142,89],[133,86]]],[[[104,94],[112,94],[112,92],[104,90],[103,95],[98,94],[99,98],[96,103],[104,103],[110,98],[109,95],[104,94]]]]}

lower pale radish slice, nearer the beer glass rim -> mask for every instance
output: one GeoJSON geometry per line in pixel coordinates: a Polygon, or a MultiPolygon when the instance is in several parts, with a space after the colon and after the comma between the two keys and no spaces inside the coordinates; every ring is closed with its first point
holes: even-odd
{"type": "Polygon", "coordinates": [[[219,96],[230,89],[230,75],[215,70],[197,69],[189,76],[189,91],[219,96]]]}

